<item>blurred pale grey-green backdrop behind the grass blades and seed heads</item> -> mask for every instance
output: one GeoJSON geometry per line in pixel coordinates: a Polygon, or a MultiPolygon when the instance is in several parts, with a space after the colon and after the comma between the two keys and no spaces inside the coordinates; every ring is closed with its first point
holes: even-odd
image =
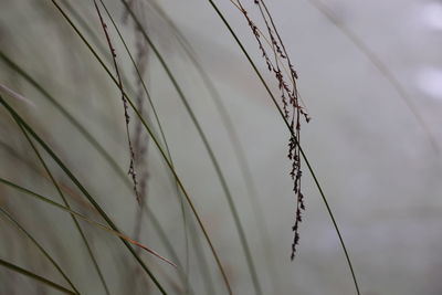
{"type": "MultiPolygon", "coordinates": [[[[93,1],[59,2],[114,73],[93,1]]],[[[220,179],[189,114],[122,2],[105,3],[137,61],[143,60],[144,78],[173,165],[219,252],[233,293],[255,294],[220,179]],[[146,51],[140,53],[140,49],[146,51]]],[[[277,83],[266,70],[243,14],[230,1],[217,4],[277,96],[277,83]]],[[[252,1],[243,4],[259,19],[252,1]]],[[[299,75],[298,91],[312,116],[311,123],[303,124],[302,146],[340,226],[361,293],[442,294],[442,1],[282,0],[267,1],[267,7],[299,75]]],[[[134,8],[213,148],[240,213],[263,293],[355,294],[330,217],[304,162],[306,211],[297,256],[290,260],[296,199],[286,158],[288,133],[213,8],[201,0],[134,0],[134,8]],[[179,41],[182,36],[192,46],[190,57],[179,41]],[[212,81],[232,120],[253,177],[252,196],[219,105],[192,59],[212,81]],[[262,215],[256,214],[257,204],[262,215]]],[[[137,94],[140,85],[130,59],[103,9],[102,13],[127,88],[137,94]]],[[[4,91],[2,97],[54,149],[122,232],[176,261],[158,233],[156,224],[161,225],[179,268],[145,251],[139,254],[166,289],[170,294],[224,294],[201,231],[188,206],[183,221],[171,173],[151,138],[137,131],[136,115],[129,113],[129,127],[133,143],[138,138],[144,149],[136,152],[137,177],[146,185],[143,191],[149,209],[143,218],[130,177],[122,180],[60,107],[6,61],[13,61],[50,93],[126,173],[130,157],[119,89],[53,3],[2,0],[0,50],[0,84],[27,101],[4,91]],[[210,271],[202,266],[201,257],[210,271]]],[[[147,102],[143,107],[159,134],[147,102]]],[[[3,107],[0,126],[1,178],[62,203],[3,107]]],[[[60,167],[42,148],[40,151],[56,181],[70,192],[66,198],[72,208],[104,222],[60,167]]],[[[82,294],[105,294],[66,212],[4,185],[0,185],[0,207],[40,242],[82,294]]],[[[80,225],[110,294],[159,294],[115,235],[84,221],[80,225]]],[[[0,236],[2,260],[69,286],[4,214],[0,236]]],[[[0,294],[57,293],[2,267],[0,294]]]]}

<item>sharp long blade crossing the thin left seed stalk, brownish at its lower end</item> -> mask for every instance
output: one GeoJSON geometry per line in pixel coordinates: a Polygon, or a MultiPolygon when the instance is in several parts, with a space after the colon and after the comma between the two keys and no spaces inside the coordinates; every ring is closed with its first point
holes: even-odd
{"type": "MultiPolygon", "coordinates": [[[[110,71],[107,69],[107,66],[104,64],[104,62],[102,61],[102,59],[98,56],[98,54],[95,52],[95,50],[92,48],[92,45],[86,41],[86,39],[83,36],[83,34],[77,30],[77,28],[75,27],[75,24],[71,21],[71,19],[66,15],[66,13],[64,12],[64,10],[56,3],[55,0],[51,0],[54,6],[57,8],[57,10],[62,13],[62,15],[66,19],[66,21],[70,23],[70,25],[75,30],[75,32],[77,33],[77,35],[82,39],[82,41],[85,43],[85,45],[90,49],[90,51],[94,54],[94,56],[96,57],[96,60],[99,62],[99,64],[103,66],[103,69],[106,71],[106,73],[109,75],[109,77],[113,80],[113,82],[115,83],[115,85],[118,86],[118,82],[117,80],[113,76],[113,74],[110,73],[110,71]]],[[[155,145],[157,146],[157,148],[159,149],[161,157],[164,158],[164,160],[166,161],[167,166],[169,167],[170,171],[173,175],[173,178],[176,179],[176,181],[178,182],[181,191],[183,192],[193,214],[197,218],[198,224],[201,228],[206,240],[208,241],[209,247],[213,254],[214,260],[217,261],[217,265],[222,274],[223,281],[225,283],[225,286],[229,291],[230,294],[232,294],[231,287],[230,287],[230,283],[229,280],[227,277],[227,274],[222,267],[221,261],[217,254],[217,251],[214,250],[214,246],[209,238],[208,232],[206,231],[206,228],[203,226],[203,223],[196,210],[196,207],[193,206],[190,196],[187,193],[183,185],[181,183],[178,175],[176,173],[173,166],[171,165],[171,162],[169,161],[169,159],[167,158],[166,152],[164,151],[164,149],[161,148],[159,141],[157,140],[157,138],[155,137],[152,130],[150,127],[148,127],[148,125],[146,124],[145,119],[140,116],[139,112],[137,110],[136,106],[133,104],[131,99],[127,96],[127,94],[125,93],[125,97],[128,101],[128,103],[130,104],[130,107],[134,109],[134,112],[136,113],[136,115],[138,116],[138,118],[143,122],[143,125],[145,126],[145,129],[149,133],[150,137],[152,138],[155,145]]]]}

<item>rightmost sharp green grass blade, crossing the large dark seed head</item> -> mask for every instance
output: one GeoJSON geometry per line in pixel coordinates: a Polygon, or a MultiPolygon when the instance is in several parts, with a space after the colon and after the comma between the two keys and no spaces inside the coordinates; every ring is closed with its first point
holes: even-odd
{"type": "MultiPolygon", "coordinates": [[[[295,135],[294,135],[294,133],[293,133],[293,129],[291,128],[290,123],[288,123],[287,119],[284,117],[284,113],[283,113],[283,110],[281,109],[280,105],[278,105],[277,102],[276,102],[276,98],[274,97],[272,91],[270,89],[270,87],[269,87],[269,85],[266,84],[265,80],[264,80],[263,76],[261,75],[261,73],[260,73],[260,71],[257,70],[256,65],[254,64],[253,60],[252,60],[251,56],[249,55],[249,53],[248,53],[248,51],[245,50],[244,45],[242,44],[242,42],[240,41],[240,39],[236,36],[235,32],[233,31],[233,29],[231,28],[231,25],[229,24],[229,22],[227,21],[227,19],[225,19],[224,15],[222,14],[222,12],[219,10],[218,6],[217,6],[212,0],[208,0],[208,1],[209,1],[209,3],[212,6],[212,8],[213,8],[214,11],[217,12],[217,14],[220,17],[220,19],[222,20],[222,22],[224,23],[224,25],[227,27],[227,29],[229,30],[229,32],[232,34],[233,39],[235,40],[236,44],[240,46],[241,51],[244,53],[244,55],[245,55],[245,57],[248,59],[249,63],[251,64],[253,71],[256,73],[256,75],[257,75],[260,82],[263,84],[263,86],[264,86],[264,88],[266,89],[266,92],[267,92],[270,98],[272,99],[272,102],[273,102],[273,104],[275,105],[277,112],[280,113],[281,117],[283,118],[283,120],[284,120],[284,123],[285,123],[285,125],[286,125],[288,131],[291,133],[291,135],[292,135],[293,137],[295,137],[295,135]]],[[[312,168],[312,166],[311,166],[311,164],[309,164],[309,161],[308,161],[308,159],[307,159],[307,157],[306,157],[306,155],[305,155],[303,148],[301,147],[299,143],[298,143],[296,139],[295,139],[295,144],[299,147],[301,155],[302,155],[302,157],[303,157],[305,164],[307,165],[308,171],[311,172],[311,175],[312,175],[312,177],[313,177],[313,180],[314,180],[314,182],[315,182],[315,186],[317,187],[317,189],[318,189],[318,191],[319,191],[319,194],[320,194],[320,197],[322,197],[322,199],[323,199],[323,201],[324,201],[324,203],[325,203],[325,206],[326,206],[327,212],[328,212],[328,214],[329,214],[329,217],[330,217],[330,219],[332,219],[332,222],[333,222],[333,225],[334,225],[334,228],[335,228],[335,231],[336,231],[336,233],[337,233],[337,235],[338,235],[340,245],[341,245],[341,247],[343,247],[343,250],[344,250],[344,254],[345,254],[345,256],[346,256],[348,267],[350,268],[351,277],[352,277],[352,281],[354,281],[354,284],[355,284],[356,292],[357,292],[358,295],[360,295],[359,285],[358,285],[358,282],[357,282],[357,280],[356,280],[356,274],[355,274],[355,271],[354,271],[354,267],[352,267],[352,264],[351,264],[351,260],[350,260],[350,256],[349,256],[349,254],[348,254],[347,247],[346,247],[346,245],[345,245],[343,235],[340,234],[339,228],[338,228],[337,222],[336,222],[336,220],[335,220],[335,217],[334,217],[334,214],[333,214],[332,208],[330,208],[329,204],[328,204],[327,198],[325,197],[325,193],[324,193],[324,191],[323,191],[323,189],[322,189],[322,187],[320,187],[320,185],[319,185],[319,181],[318,181],[318,179],[317,179],[317,177],[316,177],[315,171],[313,170],[313,168],[312,168]]]]}

